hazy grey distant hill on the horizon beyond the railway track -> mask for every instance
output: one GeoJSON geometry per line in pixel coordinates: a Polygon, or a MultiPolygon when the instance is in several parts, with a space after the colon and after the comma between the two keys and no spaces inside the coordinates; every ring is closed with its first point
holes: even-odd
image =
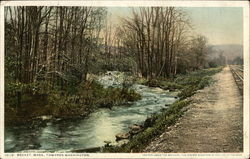
{"type": "Polygon", "coordinates": [[[243,45],[227,44],[227,45],[210,45],[209,57],[215,58],[220,54],[225,56],[228,60],[233,60],[236,57],[243,57],[243,45]]]}

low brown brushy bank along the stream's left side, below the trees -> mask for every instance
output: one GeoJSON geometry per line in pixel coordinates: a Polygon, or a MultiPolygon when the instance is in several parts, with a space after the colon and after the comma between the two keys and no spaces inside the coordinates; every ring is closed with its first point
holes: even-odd
{"type": "MultiPolygon", "coordinates": [[[[125,78],[127,76],[124,73],[107,72],[89,78],[77,87],[48,91],[46,94],[26,93],[23,94],[21,107],[11,106],[13,103],[10,98],[5,102],[5,125],[29,123],[31,128],[39,127],[46,125],[46,122],[86,118],[99,108],[128,106],[141,99],[141,95],[131,88],[132,81],[125,78]]],[[[32,87],[30,89],[33,90],[32,87]]]]}

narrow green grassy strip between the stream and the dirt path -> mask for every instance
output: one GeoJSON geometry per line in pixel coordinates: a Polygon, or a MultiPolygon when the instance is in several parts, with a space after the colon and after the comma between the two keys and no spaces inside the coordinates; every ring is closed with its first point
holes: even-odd
{"type": "Polygon", "coordinates": [[[165,89],[176,90],[179,89],[178,94],[180,100],[173,103],[164,112],[155,115],[153,126],[145,128],[141,133],[133,136],[127,144],[122,146],[105,147],[103,152],[141,152],[155,137],[162,134],[167,127],[175,124],[175,122],[186,111],[185,107],[192,101],[188,99],[197,90],[209,86],[212,82],[212,75],[220,72],[223,67],[204,69],[193,72],[187,75],[180,75],[174,80],[157,79],[154,81],[143,82],[149,86],[157,86],[165,89]]]}

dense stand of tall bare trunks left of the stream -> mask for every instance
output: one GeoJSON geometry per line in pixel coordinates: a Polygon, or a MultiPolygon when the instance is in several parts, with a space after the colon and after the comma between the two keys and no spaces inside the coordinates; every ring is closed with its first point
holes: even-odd
{"type": "Polygon", "coordinates": [[[89,56],[100,45],[104,8],[7,7],[5,13],[6,67],[13,68],[8,72],[15,81],[63,87],[86,80],[89,56]]]}

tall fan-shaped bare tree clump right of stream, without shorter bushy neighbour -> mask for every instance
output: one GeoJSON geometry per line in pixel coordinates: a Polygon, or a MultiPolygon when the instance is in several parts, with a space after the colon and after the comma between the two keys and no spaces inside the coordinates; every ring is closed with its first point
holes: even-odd
{"type": "Polygon", "coordinates": [[[169,77],[177,73],[179,48],[186,37],[189,20],[174,7],[132,9],[123,19],[123,45],[135,53],[137,70],[146,78],[169,77]]]}

